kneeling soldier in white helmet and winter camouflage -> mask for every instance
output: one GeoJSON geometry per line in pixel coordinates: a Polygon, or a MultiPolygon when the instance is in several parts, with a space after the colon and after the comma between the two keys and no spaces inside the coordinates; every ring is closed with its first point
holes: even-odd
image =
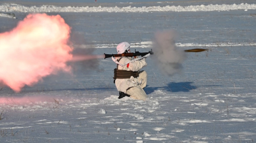
{"type": "MultiPolygon", "coordinates": [[[[130,53],[130,46],[124,41],[117,45],[116,50],[118,54],[130,53]]],[[[147,65],[145,58],[132,60],[132,57],[117,57],[115,62],[118,63],[114,75],[116,89],[119,91],[118,98],[129,96],[134,100],[145,100],[147,94],[143,88],[147,85],[147,72],[141,70],[147,65]]]]}

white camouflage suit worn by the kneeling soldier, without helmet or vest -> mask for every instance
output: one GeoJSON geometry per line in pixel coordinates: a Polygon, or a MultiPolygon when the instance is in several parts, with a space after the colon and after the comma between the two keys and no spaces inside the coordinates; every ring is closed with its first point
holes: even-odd
{"type": "MultiPolygon", "coordinates": [[[[131,57],[118,58],[120,64],[125,64],[131,60],[131,57]]],[[[134,100],[145,100],[147,98],[147,94],[145,93],[143,88],[147,85],[147,72],[140,70],[146,65],[147,63],[145,61],[145,58],[140,59],[138,61],[132,61],[131,63],[126,64],[125,66],[118,65],[118,70],[138,72],[139,77],[134,78],[131,76],[130,79],[116,79],[115,84],[117,90],[129,94],[130,97],[134,100]]]]}

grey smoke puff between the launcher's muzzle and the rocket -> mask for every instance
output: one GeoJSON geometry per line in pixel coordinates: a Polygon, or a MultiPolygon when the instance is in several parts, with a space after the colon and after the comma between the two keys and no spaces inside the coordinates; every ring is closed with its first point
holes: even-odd
{"type": "Polygon", "coordinates": [[[154,55],[152,58],[165,75],[172,76],[180,73],[182,63],[186,59],[184,50],[177,49],[175,46],[175,31],[158,31],[153,40],[154,55]]]}

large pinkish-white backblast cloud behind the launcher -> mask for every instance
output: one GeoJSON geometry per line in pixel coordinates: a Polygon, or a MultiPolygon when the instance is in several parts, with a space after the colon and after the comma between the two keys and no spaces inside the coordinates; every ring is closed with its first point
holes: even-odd
{"type": "Polygon", "coordinates": [[[52,73],[70,72],[69,37],[60,15],[29,14],[12,31],[0,33],[0,82],[19,92],[52,73]]]}

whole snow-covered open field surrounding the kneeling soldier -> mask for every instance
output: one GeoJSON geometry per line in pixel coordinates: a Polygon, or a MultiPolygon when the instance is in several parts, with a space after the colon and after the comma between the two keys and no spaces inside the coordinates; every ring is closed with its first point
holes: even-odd
{"type": "MultiPolygon", "coordinates": [[[[201,4],[191,2],[182,12],[47,13],[61,15],[72,33],[83,33],[94,54],[115,53],[121,41],[147,52],[154,33],[164,29],[179,33],[179,49],[209,51],[188,53],[182,73],[173,77],[148,57],[146,101],[118,100],[111,59],[100,59],[96,69],[45,77],[20,93],[1,86],[0,142],[255,142],[256,10],[232,2],[217,11],[195,11],[201,4]]],[[[0,33],[41,8],[10,5],[6,11],[2,4],[0,12],[17,19],[0,17],[0,33]]]]}

